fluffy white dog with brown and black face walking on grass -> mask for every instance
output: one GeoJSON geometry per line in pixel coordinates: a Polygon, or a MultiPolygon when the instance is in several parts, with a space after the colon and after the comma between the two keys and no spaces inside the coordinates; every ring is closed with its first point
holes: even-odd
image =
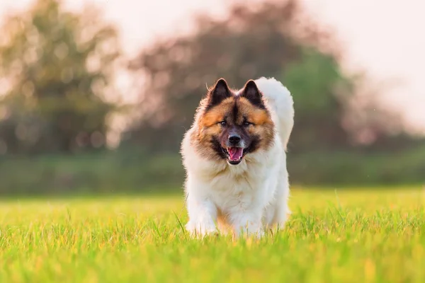
{"type": "Polygon", "coordinates": [[[181,141],[191,235],[230,228],[261,237],[290,215],[286,148],[293,98],[276,79],[249,80],[239,90],[219,79],[200,100],[181,141]]]}

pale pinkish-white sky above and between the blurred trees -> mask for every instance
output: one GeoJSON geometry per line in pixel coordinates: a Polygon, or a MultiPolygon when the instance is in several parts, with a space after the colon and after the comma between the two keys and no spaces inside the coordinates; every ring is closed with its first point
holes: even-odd
{"type": "MultiPolygon", "coordinates": [[[[252,0],[258,1],[258,0],[252,0]]],[[[377,82],[394,79],[383,103],[425,134],[425,0],[301,0],[343,42],[344,67],[363,69],[377,82]]],[[[0,0],[0,18],[32,0],[0,0]]],[[[118,25],[129,57],[158,37],[190,30],[191,16],[225,16],[225,0],[65,0],[70,8],[95,2],[118,25]]],[[[250,1],[246,1],[249,3],[250,1]]],[[[125,86],[125,79],[123,79],[125,86]]]]}

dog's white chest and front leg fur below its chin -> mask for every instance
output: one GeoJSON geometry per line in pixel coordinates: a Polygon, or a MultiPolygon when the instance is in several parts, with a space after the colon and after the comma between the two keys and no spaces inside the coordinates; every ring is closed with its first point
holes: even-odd
{"type": "Polygon", "coordinates": [[[215,222],[221,217],[231,226],[251,224],[249,229],[259,231],[278,195],[285,151],[272,146],[266,152],[246,156],[238,166],[192,157],[186,160],[186,166],[191,167],[186,183],[191,220],[186,227],[208,233],[215,230],[215,222]],[[200,229],[195,228],[197,225],[200,229]]]}

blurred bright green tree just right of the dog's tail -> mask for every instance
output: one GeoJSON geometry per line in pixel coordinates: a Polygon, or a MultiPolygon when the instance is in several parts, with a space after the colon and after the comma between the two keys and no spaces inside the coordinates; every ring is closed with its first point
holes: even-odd
{"type": "Polygon", "coordinates": [[[291,151],[348,146],[349,135],[341,118],[351,98],[353,82],[341,75],[336,59],[313,48],[303,48],[300,59],[289,64],[282,77],[294,96],[296,119],[291,151]]]}

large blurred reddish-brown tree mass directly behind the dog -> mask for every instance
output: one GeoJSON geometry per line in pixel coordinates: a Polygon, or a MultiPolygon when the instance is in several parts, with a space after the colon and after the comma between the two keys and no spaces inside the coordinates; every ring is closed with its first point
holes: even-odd
{"type": "Polygon", "coordinates": [[[382,109],[368,107],[356,109],[363,117],[356,122],[357,114],[350,112],[360,80],[342,74],[331,30],[312,22],[297,0],[235,4],[225,20],[200,16],[196,25],[195,33],[157,42],[130,64],[146,78],[141,118],[129,131],[130,141],[176,151],[206,93],[205,83],[220,77],[235,87],[259,76],[288,86],[296,108],[293,152],[344,149],[366,125],[385,133],[375,117],[392,121],[382,109]]]}

